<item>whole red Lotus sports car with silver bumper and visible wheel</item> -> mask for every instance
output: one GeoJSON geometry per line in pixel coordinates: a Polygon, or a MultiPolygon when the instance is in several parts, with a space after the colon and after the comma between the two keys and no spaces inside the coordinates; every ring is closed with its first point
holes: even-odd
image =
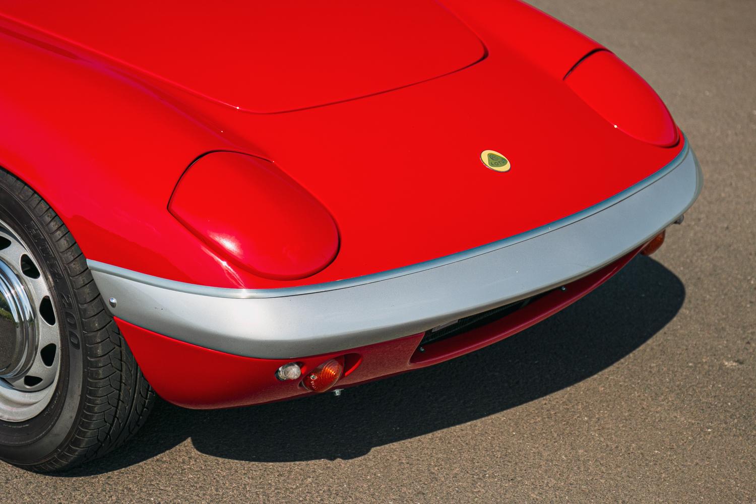
{"type": "Polygon", "coordinates": [[[155,394],[299,397],[497,342],[698,196],[611,51],[516,0],[0,2],[0,458],[155,394]]]}

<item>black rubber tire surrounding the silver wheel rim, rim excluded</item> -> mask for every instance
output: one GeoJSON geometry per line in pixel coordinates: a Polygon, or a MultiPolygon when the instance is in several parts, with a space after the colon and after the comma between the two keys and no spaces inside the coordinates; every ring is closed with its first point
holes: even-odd
{"type": "Polygon", "coordinates": [[[0,169],[0,220],[29,246],[61,327],[60,377],[45,410],[0,420],[0,459],[36,472],[73,468],[119,447],[144,424],[155,393],[107,313],[86,259],[57,214],[0,169]]]}

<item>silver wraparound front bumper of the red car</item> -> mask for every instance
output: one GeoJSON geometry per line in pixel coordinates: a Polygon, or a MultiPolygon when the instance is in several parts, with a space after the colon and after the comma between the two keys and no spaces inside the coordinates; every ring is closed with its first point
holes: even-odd
{"type": "Polygon", "coordinates": [[[88,261],[111,313],[231,354],[296,358],[384,342],[569,283],[640,246],[699,195],[686,146],[599,205],[528,233],[382,274],[290,289],[221,289],[88,261]]]}

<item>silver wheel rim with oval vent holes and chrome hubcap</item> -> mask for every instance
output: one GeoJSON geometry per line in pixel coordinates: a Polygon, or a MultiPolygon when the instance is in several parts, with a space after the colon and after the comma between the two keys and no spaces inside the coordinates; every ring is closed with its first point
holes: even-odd
{"type": "Polygon", "coordinates": [[[23,422],[41,413],[59,370],[50,289],[26,244],[0,221],[0,419],[23,422]]]}

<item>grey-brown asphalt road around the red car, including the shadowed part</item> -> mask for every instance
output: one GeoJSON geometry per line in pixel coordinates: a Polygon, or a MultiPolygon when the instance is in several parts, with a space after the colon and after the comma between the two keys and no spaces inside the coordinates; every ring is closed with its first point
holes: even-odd
{"type": "Polygon", "coordinates": [[[504,342],[342,397],[160,402],[73,472],[0,464],[2,502],[756,502],[756,2],[533,3],[630,63],[696,150],[704,191],[659,252],[504,342]]]}

